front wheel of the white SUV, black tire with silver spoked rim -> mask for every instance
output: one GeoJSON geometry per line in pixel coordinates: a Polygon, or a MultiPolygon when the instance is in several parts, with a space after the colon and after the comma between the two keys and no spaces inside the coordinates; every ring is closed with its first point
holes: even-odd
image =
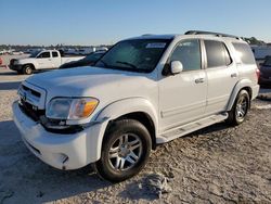
{"type": "Polygon", "coordinates": [[[151,146],[151,136],[140,122],[114,122],[106,130],[101,158],[94,164],[94,169],[103,179],[112,182],[124,181],[145,166],[151,146]]]}

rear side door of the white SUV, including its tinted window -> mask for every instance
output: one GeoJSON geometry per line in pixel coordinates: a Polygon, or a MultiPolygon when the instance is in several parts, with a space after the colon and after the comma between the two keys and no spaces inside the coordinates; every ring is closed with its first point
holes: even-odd
{"type": "Polygon", "coordinates": [[[238,73],[223,41],[204,40],[204,47],[208,78],[206,114],[211,115],[225,111],[232,90],[238,80],[238,73]]]}

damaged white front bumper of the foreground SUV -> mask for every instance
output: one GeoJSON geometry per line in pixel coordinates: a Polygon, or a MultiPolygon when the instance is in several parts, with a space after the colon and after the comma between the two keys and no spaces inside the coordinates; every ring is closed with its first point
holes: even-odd
{"type": "Polygon", "coordinates": [[[107,122],[96,123],[73,135],[47,131],[26,116],[14,102],[13,119],[26,146],[41,161],[59,169],[77,169],[100,160],[107,122]]]}

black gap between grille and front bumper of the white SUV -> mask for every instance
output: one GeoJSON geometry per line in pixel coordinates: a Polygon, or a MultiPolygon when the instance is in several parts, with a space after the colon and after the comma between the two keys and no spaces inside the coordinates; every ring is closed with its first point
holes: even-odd
{"type": "Polygon", "coordinates": [[[20,107],[28,117],[30,117],[35,122],[38,122],[40,116],[46,114],[44,110],[37,110],[37,107],[23,100],[21,100],[20,107]]]}

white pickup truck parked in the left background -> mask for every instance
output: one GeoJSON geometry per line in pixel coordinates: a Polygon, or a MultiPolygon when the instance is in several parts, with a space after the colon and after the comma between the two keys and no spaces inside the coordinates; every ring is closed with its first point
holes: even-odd
{"type": "Polygon", "coordinates": [[[10,68],[18,74],[30,75],[36,69],[59,68],[62,64],[81,60],[83,56],[62,56],[57,50],[42,50],[30,54],[26,59],[13,59],[10,68]]]}

